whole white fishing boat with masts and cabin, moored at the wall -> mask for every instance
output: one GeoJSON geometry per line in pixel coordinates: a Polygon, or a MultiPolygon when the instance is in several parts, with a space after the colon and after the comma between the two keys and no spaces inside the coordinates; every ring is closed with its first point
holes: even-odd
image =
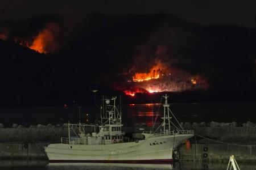
{"type": "Polygon", "coordinates": [[[182,142],[193,137],[193,130],[183,130],[179,122],[178,128],[171,121],[175,116],[167,103],[168,96],[163,97],[163,123],[158,131],[143,131],[143,140],[125,138],[122,113],[115,105],[117,98],[113,97],[103,101],[101,125],[68,124],[68,138],[61,138],[60,143],[46,147],[49,162],[172,162],[173,151],[182,142]],[[93,133],[85,133],[88,126],[94,128],[93,133]],[[171,130],[173,127],[176,130],[171,130]],[[75,137],[71,134],[75,134],[75,137]]]}

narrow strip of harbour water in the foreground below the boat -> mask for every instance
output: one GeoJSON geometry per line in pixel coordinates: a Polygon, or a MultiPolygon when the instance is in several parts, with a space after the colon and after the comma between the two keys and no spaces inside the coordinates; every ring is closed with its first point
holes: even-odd
{"type": "MultiPolygon", "coordinates": [[[[255,164],[240,164],[241,170],[256,169],[255,164]]],[[[52,163],[42,161],[0,161],[1,169],[15,170],[96,170],[96,169],[113,169],[113,170],[130,170],[130,169],[226,169],[228,163],[195,163],[180,162],[175,164],[109,164],[109,163],[52,163]]]]}

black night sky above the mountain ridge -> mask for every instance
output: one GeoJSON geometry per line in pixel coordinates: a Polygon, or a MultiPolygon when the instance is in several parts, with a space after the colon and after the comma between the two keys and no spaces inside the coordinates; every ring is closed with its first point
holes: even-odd
{"type": "Polygon", "coordinates": [[[0,20],[21,20],[43,14],[83,15],[99,12],[109,15],[155,14],[164,12],[202,24],[254,27],[256,2],[248,1],[68,1],[3,0],[0,20]]]}

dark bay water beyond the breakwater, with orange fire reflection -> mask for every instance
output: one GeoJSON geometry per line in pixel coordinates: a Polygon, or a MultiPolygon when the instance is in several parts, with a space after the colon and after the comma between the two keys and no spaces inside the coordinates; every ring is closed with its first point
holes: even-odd
{"type": "MultiPolygon", "coordinates": [[[[162,101],[163,103],[163,101],[162,101]]],[[[68,120],[79,122],[81,111],[82,123],[93,123],[100,118],[100,109],[96,106],[78,107],[36,107],[36,108],[0,108],[1,120],[5,127],[13,124],[29,127],[38,124],[63,124],[68,120]],[[88,120],[88,121],[86,121],[88,120]]],[[[256,103],[174,103],[172,112],[180,122],[238,122],[238,125],[251,121],[256,122],[256,103]]],[[[124,126],[146,124],[160,121],[163,106],[160,104],[122,105],[124,126]]]]}

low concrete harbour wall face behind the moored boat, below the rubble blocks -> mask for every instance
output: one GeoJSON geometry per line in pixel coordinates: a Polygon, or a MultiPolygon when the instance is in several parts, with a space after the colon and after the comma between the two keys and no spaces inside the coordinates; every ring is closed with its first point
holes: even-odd
{"type": "MultiPolygon", "coordinates": [[[[0,159],[40,159],[47,160],[44,146],[47,143],[0,143],[0,159]]],[[[238,163],[255,163],[256,162],[256,146],[232,146],[232,145],[216,145],[216,144],[192,144],[187,149],[185,145],[177,148],[180,154],[180,161],[193,162],[220,162],[228,163],[229,156],[235,155],[238,163]],[[205,152],[204,148],[208,150],[205,152]],[[205,156],[207,154],[207,156],[205,156]]]]}

